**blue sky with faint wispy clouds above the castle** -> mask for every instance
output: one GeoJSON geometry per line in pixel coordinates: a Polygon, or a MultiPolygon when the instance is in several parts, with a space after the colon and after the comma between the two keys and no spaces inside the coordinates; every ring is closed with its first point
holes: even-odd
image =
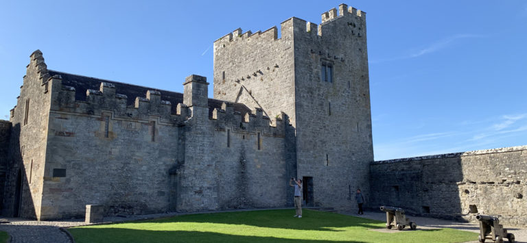
{"type": "Polygon", "coordinates": [[[212,79],[214,40],[342,2],[367,12],[375,160],[527,144],[524,0],[0,0],[0,118],[36,49],[52,70],[183,92],[212,79]]]}

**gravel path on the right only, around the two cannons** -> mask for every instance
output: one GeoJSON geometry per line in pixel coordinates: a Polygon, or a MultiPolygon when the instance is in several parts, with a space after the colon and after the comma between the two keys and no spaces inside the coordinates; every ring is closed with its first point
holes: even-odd
{"type": "MultiPolygon", "coordinates": [[[[356,214],[353,214],[351,212],[343,212],[342,214],[347,214],[351,216],[358,216],[356,214]]],[[[370,218],[374,220],[381,220],[386,221],[386,214],[382,212],[364,212],[364,215],[360,215],[358,217],[362,218],[370,218]]],[[[417,229],[441,229],[441,228],[452,228],[452,229],[460,229],[464,231],[471,231],[474,233],[480,233],[480,226],[473,222],[457,222],[452,220],[441,220],[437,218],[423,218],[423,217],[414,217],[414,216],[408,216],[410,220],[417,222],[417,229]]],[[[504,225],[504,228],[507,229],[508,233],[513,233],[516,242],[519,243],[527,243],[527,229],[524,228],[517,228],[517,227],[508,227],[507,225],[504,225]]],[[[390,230],[397,232],[397,230],[390,230]]],[[[491,242],[490,240],[487,240],[487,242],[491,242]]],[[[507,242],[507,239],[504,239],[504,242],[507,242]]],[[[467,242],[467,243],[479,243],[478,239],[467,242]]]]}

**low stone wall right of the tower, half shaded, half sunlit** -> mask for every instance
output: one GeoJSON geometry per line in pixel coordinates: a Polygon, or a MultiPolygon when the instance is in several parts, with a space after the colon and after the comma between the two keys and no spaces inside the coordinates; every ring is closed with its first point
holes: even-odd
{"type": "Polygon", "coordinates": [[[501,215],[527,226],[527,146],[373,162],[368,207],[402,207],[409,214],[475,220],[501,215]]]}

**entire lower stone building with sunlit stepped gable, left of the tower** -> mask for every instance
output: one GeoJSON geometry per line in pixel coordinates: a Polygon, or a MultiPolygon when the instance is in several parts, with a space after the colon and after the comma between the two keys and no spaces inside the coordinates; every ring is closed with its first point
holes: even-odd
{"type": "Polygon", "coordinates": [[[89,204],[106,214],[288,205],[283,183],[294,161],[286,159],[285,115],[271,127],[259,109],[208,99],[196,75],[178,94],[38,65],[40,51],[28,65],[23,108],[12,110],[6,215],[83,216],[89,204]],[[27,99],[43,105],[30,106],[24,125],[27,99]]]}

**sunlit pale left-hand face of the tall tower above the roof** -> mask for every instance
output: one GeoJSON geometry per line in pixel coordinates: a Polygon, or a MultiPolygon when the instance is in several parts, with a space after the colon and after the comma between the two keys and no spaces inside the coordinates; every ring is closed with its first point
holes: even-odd
{"type": "Polygon", "coordinates": [[[258,107],[295,124],[293,18],[264,32],[236,29],[214,42],[214,98],[258,107]]]}

